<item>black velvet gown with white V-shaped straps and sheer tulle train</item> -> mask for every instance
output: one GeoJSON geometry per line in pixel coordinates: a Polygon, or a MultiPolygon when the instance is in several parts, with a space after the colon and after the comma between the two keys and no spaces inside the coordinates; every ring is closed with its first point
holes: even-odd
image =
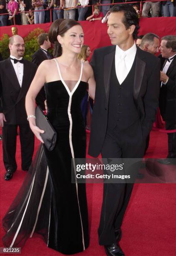
{"type": "MultiPolygon", "coordinates": [[[[57,60],[56,64],[58,66],[57,60]]],[[[40,145],[17,197],[3,218],[6,247],[21,247],[39,236],[64,254],[89,245],[85,184],[71,183],[71,159],[85,158],[86,134],[81,100],[87,83],[60,80],[45,84],[48,119],[57,132],[53,151],[40,145]]]]}

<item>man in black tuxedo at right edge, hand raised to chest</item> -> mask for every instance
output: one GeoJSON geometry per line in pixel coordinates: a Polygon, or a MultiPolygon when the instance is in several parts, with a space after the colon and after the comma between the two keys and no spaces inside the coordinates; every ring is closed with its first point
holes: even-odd
{"type": "MultiPolygon", "coordinates": [[[[166,58],[161,71],[159,107],[166,130],[176,130],[176,36],[161,38],[160,51],[166,58]]],[[[161,164],[171,164],[176,159],[176,133],[168,133],[168,155],[158,159],[161,164]]]]}

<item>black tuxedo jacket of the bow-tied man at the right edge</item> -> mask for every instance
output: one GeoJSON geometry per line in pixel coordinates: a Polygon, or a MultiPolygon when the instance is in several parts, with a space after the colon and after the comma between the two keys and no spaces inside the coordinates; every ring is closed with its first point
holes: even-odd
{"type": "MultiPolygon", "coordinates": [[[[165,66],[167,60],[164,62],[165,66]]],[[[162,84],[159,97],[159,108],[163,120],[176,120],[176,55],[171,62],[168,71],[167,84],[162,84]]]]}

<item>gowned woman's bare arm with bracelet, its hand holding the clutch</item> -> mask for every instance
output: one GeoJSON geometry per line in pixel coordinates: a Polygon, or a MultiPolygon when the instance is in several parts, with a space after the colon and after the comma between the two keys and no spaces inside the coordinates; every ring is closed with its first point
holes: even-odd
{"type": "MultiPolygon", "coordinates": [[[[46,74],[47,74],[46,70],[48,70],[48,60],[43,61],[38,67],[35,77],[32,83],[30,84],[30,88],[26,95],[25,108],[28,116],[30,115],[35,116],[35,98],[46,82],[46,74]]],[[[42,137],[40,136],[40,133],[44,133],[45,131],[40,130],[40,128],[36,126],[34,117],[29,118],[28,121],[29,121],[30,128],[35,134],[35,136],[38,138],[38,140],[44,143],[44,141],[42,140],[42,137]]]]}

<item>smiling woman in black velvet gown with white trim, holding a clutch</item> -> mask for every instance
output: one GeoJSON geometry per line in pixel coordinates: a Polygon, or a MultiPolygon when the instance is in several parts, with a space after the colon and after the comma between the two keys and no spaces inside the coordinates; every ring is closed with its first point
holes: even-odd
{"type": "Polygon", "coordinates": [[[89,245],[85,184],[71,183],[71,159],[85,158],[86,134],[80,110],[88,89],[95,94],[93,70],[77,59],[83,45],[83,29],[75,20],[56,20],[49,39],[57,57],[40,64],[26,96],[26,111],[35,136],[35,97],[45,84],[47,116],[57,132],[53,151],[40,146],[28,179],[10,206],[3,226],[7,247],[23,246],[26,239],[40,236],[64,254],[84,251],[89,245]],[[43,152],[44,149],[44,152],[43,152]]]}

